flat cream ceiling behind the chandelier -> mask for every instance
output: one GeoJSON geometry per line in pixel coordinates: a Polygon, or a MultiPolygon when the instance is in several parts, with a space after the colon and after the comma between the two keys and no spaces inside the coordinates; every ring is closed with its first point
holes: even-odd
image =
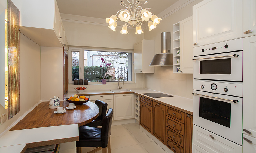
{"type": "MultiPolygon", "coordinates": [[[[128,4],[127,0],[123,0],[128,4]]],[[[132,2],[132,0],[129,0],[132,2]]],[[[178,0],[149,0],[142,8],[151,8],[152,14],[159,14],[163,10],[173,5],[178,0]]],[[[145,0],[140,0],[144,3],[145,0]]],[[[57,0],[60,13],[81,15],[93,18],[109,18],[116,14],[124,6],[120,6],[121,0],[57,0]]]]}

